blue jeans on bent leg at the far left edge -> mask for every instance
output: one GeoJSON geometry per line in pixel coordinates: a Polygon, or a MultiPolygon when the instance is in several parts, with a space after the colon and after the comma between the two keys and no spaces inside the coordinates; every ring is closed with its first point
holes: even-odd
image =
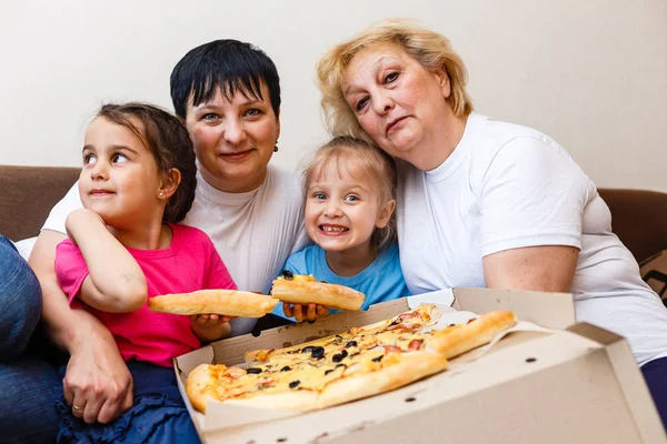
{"type": "Polygon", "coordinates": [[[0,235],[0,443],[53,442],[58,372],[26,356],[41,312],[37,276],[0,235]]]}

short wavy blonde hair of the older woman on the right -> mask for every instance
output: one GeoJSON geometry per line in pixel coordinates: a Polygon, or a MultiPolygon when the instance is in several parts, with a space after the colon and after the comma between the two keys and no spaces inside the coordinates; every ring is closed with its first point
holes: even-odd
{"type": "Polygon", "coordinates": [[[402,48],[425,69],[435,71],[442,68],[451,84],[447,98],[457,117],[472,112],[472,102],[466,92],[468,71],[462,59],[456,53],[449,40],[417,21],[388,19],[372,24],[352,39],[330,49],[317,64],[318,85],[322,93],[321,107],[325,124],[334,135],[352,135],[372,142],[364,131],[355,112],[342,94],[342,73],[352,58],[362,49],[390,42],[402,48]]]}

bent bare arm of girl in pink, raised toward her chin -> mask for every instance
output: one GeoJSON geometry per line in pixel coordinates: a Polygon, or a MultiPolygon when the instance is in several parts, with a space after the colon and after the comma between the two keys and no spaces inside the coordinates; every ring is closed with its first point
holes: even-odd
{"type": "Polygon", "coordinates": [[[109,313],[128,313],[146,304],[146,276],[130,252],[107,230],[102,218],[90,210],[71,212],[67,234],[81,250],[89,275],[80,297],[109,313]]]}

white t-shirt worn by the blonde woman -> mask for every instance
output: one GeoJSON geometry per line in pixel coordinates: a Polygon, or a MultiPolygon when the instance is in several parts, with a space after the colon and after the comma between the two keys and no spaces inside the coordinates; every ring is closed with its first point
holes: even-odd
{"type": "Polygon", "coordinates": [[[590,179],[547,135],[470,114],[454,153],[420,171],[399,162],[400,262],[414,293],[484,287],[481,258],[535,245],[580,249],[577,320],[625,336],[643,365],[667,356],[667,309],[611,233],[590,179]]]}

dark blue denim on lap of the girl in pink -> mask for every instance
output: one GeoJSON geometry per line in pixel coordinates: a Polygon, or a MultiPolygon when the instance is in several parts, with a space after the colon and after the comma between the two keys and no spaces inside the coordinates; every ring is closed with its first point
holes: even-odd
{"type": "MultiPolygon", "coordinates": [[[[60,415],[59,443],[160,443],[198,444],[186,404],[178,391],[173,369],[129,361],[135,383],[133,404],[110,424],[86,424],[64,403],[62,384],[57,408],[60,415]]],[[[60,370],[64,375],[64,367],[60,370]]]]}

